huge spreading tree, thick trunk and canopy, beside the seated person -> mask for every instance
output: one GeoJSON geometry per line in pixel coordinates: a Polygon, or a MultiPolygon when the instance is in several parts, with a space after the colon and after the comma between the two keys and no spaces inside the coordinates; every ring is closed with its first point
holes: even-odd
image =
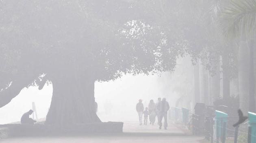
{"type": "Polygon", "coordinates": [[[172,71],[182,55],[184,42],[165,32],[156,16],[163,5],[152,2],[1,0],[0,107],[24,87],[51,82],[47,124],[100,122],[96,80],[172,71]]]}

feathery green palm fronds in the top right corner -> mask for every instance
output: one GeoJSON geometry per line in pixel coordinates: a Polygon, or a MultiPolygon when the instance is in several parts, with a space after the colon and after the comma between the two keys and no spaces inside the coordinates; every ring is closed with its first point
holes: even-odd
{"type": "Polygon", "coordinates": [[[219,25],[226,38],[252,35],[256,29],[256,0],[231,0],[220,15],[219,25]]]}

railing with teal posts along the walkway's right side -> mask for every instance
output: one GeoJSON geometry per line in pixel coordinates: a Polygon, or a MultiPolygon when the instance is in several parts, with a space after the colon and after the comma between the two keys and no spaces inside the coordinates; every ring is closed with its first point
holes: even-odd
{"type": "Polygon", "coordinates": [[[216,116],[216,114],[198,116],[191,112],[182,112],[179,108],[173,108],[173,110],[175,110],[173,119],[176,122],[182,122],[188,126],[193,135],[205,135],[205,138],[211,143],[225,143],[227,139],[233,140],[234,143],[254,143],[256,141],[256,121],[248,122],[248,125],[245,122],[234,128],[232,125],[238,121],[238,116],[228,116],[227,114],[226,117],[216,116]]]}

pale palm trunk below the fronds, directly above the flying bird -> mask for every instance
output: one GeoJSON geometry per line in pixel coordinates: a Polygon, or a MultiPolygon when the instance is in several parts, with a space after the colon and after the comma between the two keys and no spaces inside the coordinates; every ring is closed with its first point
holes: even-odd
{"type": "Polygon", "coordinates": [[[245,40],[240,42],[238,58],[238,78],[239,78],[239,103],[244,113],[248,111],[249,102],[249,49],[245,40]]]}

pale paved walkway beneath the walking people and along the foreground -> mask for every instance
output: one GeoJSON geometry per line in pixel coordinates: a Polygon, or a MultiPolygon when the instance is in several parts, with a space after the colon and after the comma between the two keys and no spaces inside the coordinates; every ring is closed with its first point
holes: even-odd
{"type": "Polygon", "coordinates": [[[0,139],[0,143],[200,143],[204,137],[186,135],[174,124],[168,130],[157,125],[141,125],[124,122],[124,133],[93,134],[85,136],[19,137],[0,139]]]}

